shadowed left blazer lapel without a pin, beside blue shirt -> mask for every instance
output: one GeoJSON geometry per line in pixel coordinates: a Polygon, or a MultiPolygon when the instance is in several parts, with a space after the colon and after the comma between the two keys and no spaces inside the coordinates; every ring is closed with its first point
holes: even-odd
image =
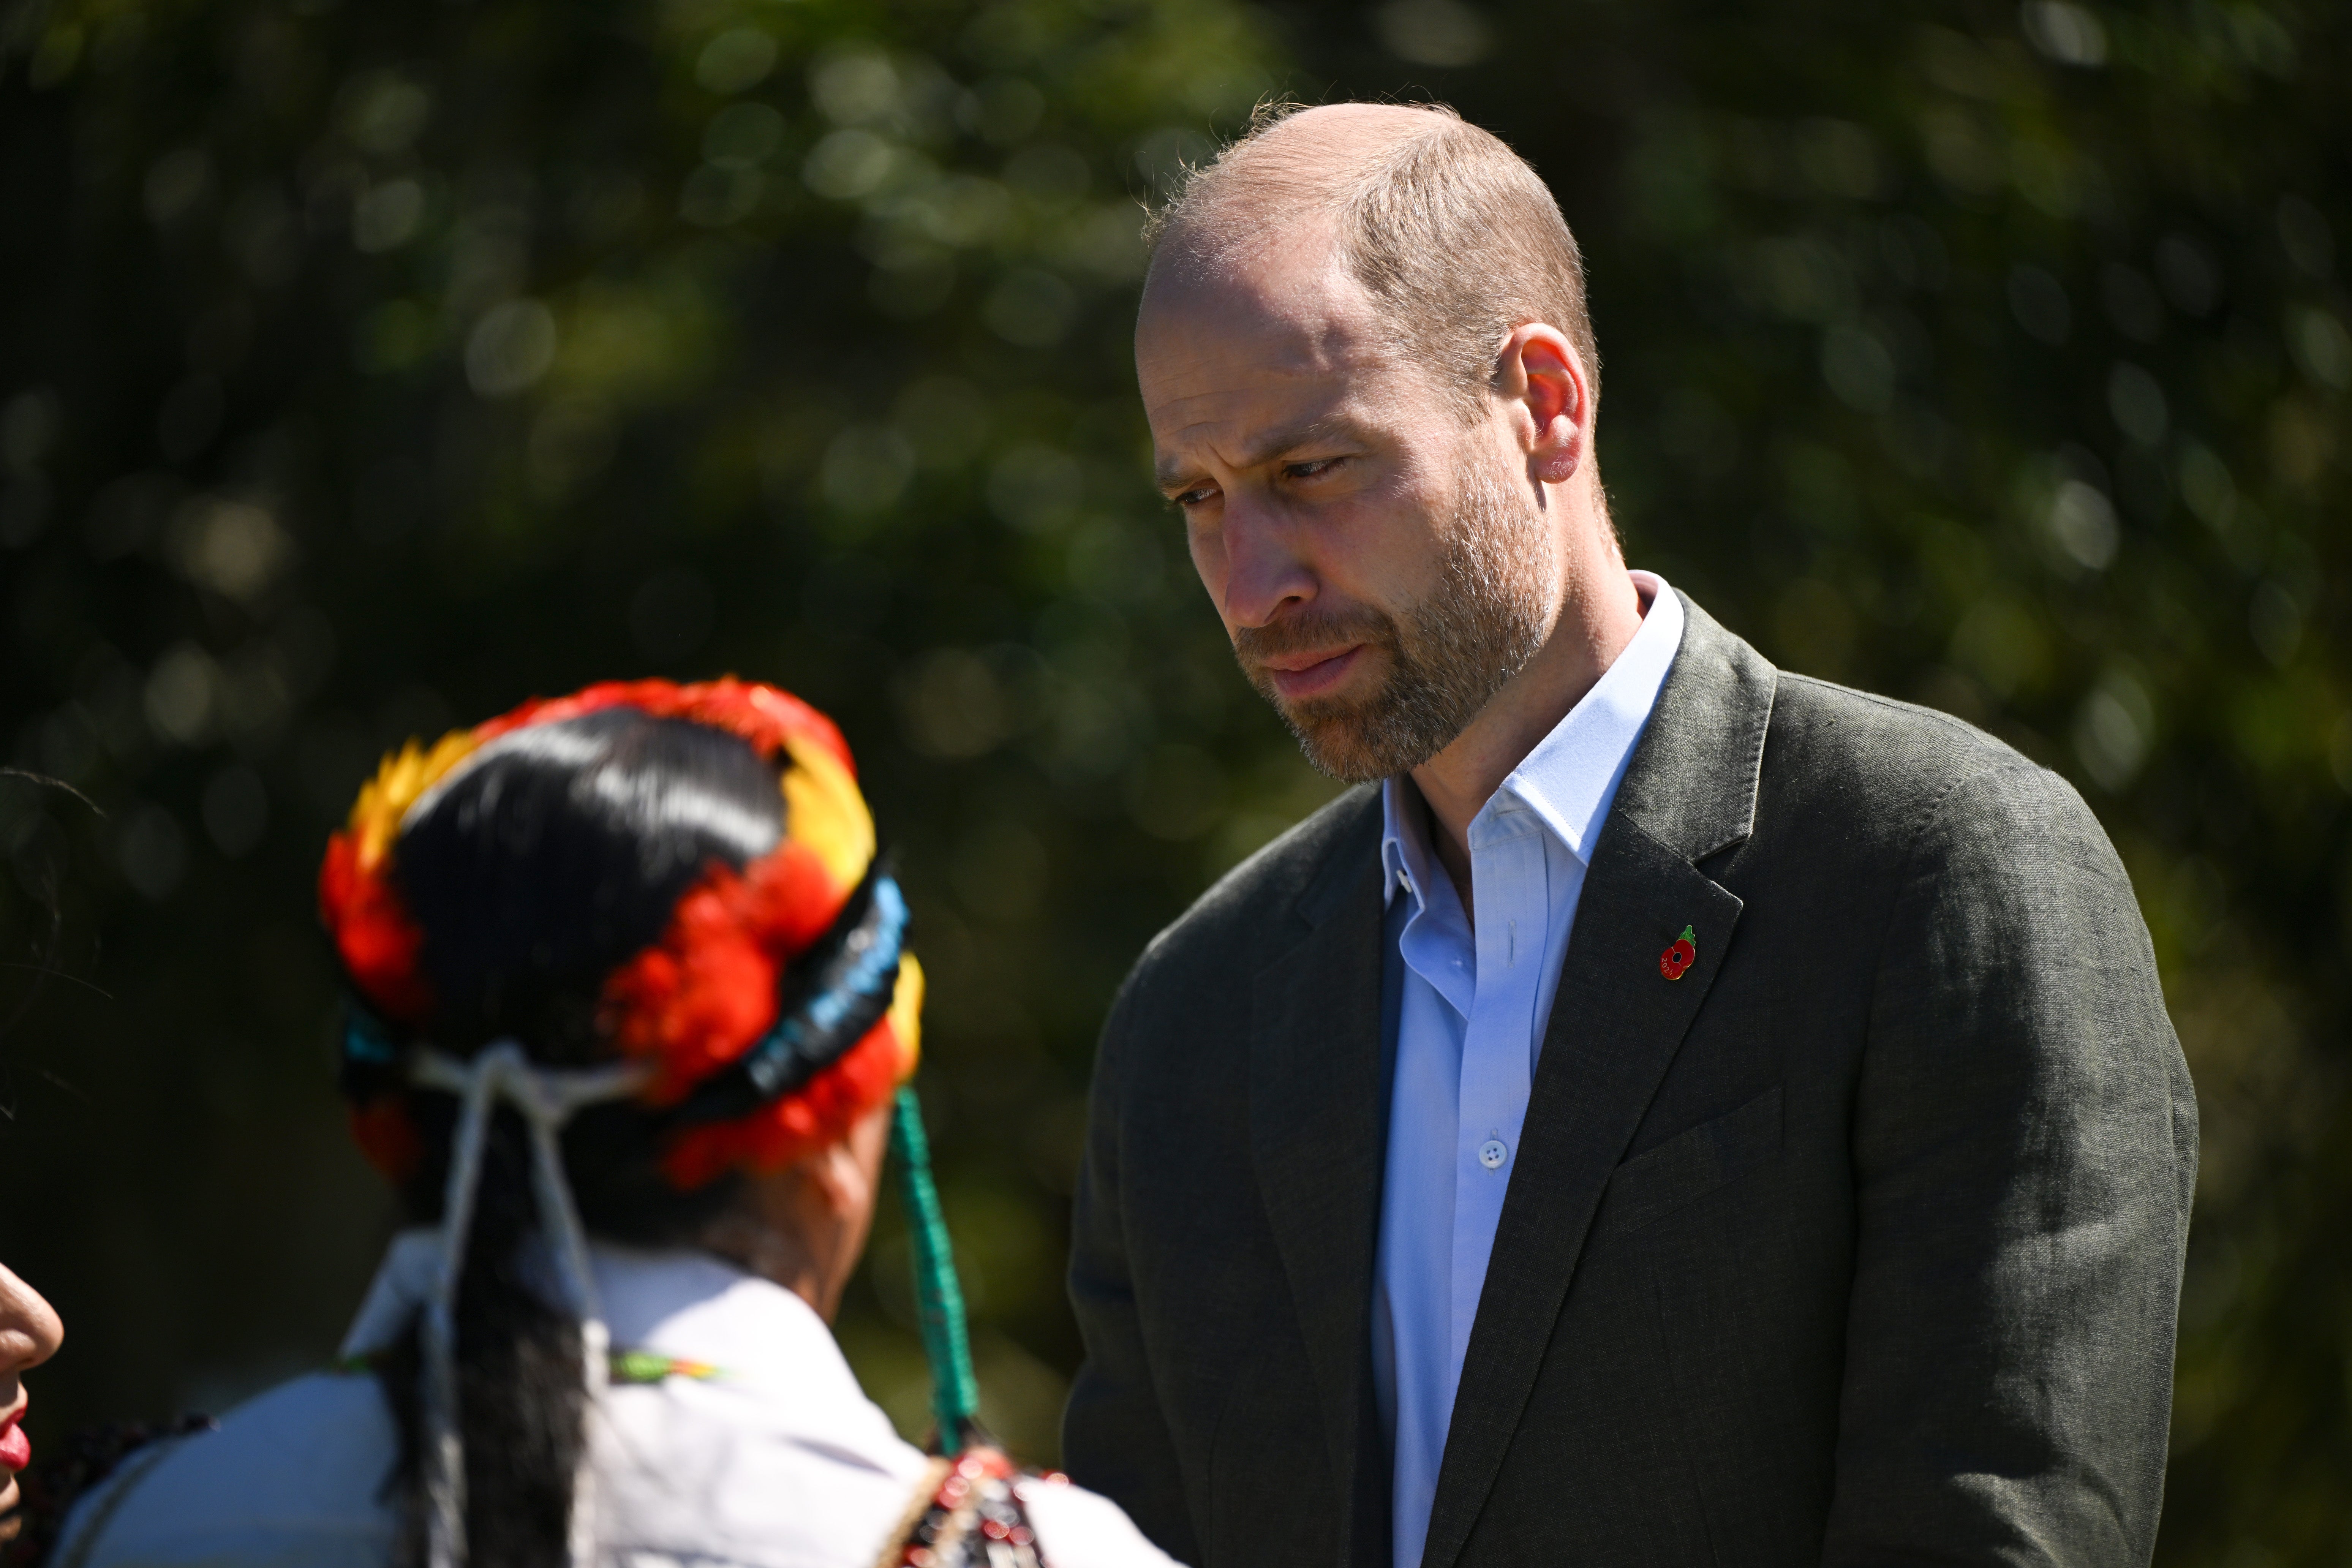
{"type": "MultiPolygon", "coordinates": [[[[1378,825],[1374,795],[1367,827],[1343,835],[1301,898],[1305,940],[1268,964],[1251,992],[1251,1157],[1343,1497],[1357,1486],[1388,1124],[1378,825]]],[[[1336,1563],[1350,1561],[1348,1540],[1334,1547],[1336,1563]]]]}

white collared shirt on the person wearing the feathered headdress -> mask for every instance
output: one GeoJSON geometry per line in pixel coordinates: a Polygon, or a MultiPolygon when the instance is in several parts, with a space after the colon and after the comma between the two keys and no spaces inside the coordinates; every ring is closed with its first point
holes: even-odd
{"type": "MultiPolygon", "coordinates": [[[[346,1352],[407,1324],[437,1253],[405,1232],[346,1352]]],[[[866,1399],[816,1312],[691,1251],[593,1244],[612,1342],[708,1375],[607,1389],[590,1425],[607,1568],[866,1568],[924,1483],[924,1455],[866,1399]]],[[[87,1568],[355,1568],[388,1563],[397,1448],[372,1375],[313,1373],[238,1406],[216,1432],[139,1450],[73,1514],[59,1563],[87,1568]],[[115,1490],[125,1495],[115,1500],[115,1490]],[[94,1530],[85,1547],[78,1537],[94,1530]],[[80,1554],[80,1556],[78,1556],[80,1554]]],[[[1112,1502],[1023,1481],[1054,1568],[1174,1568],[1112,1502]]],[[[494,1566],[489,1566],[494,1568],[494,1566]]]]}

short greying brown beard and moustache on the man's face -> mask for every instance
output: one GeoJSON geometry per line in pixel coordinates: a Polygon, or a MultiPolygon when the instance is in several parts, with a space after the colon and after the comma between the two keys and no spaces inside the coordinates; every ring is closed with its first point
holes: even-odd
{"type": "Polygon", "coordinates": [[[1399,616],[1357,607],[1242,628],[1232,654],[1315,769],[1348,783],[1406,773],[1451,745],[1543,646],[1548,567],[1536,508],[1491,463],[1465,458],[1437,592],[1399,616]],[[1350,642],[1388,656],[1378,691],[1282,701],[1268,658],[1350,642]]]}

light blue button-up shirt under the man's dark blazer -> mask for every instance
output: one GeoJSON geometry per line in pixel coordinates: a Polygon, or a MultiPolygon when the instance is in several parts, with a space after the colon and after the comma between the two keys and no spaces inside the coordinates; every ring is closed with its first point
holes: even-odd
{"type": "Polygon", "coordinates": [[[1381,795],[1388,929],[1404,922],[1371,1302],[1374,1392],[1395,1458],[1395,1568],[1418,1568],[1430,1533],[1470,1321],[1592,839],[1682,646],[1682,602],[1663,578],[1630,576],[1646,599],[1642,630],[1470,818],[1475,931],[1430,849],[1421,790],[1399,776],[1381,795]]]}

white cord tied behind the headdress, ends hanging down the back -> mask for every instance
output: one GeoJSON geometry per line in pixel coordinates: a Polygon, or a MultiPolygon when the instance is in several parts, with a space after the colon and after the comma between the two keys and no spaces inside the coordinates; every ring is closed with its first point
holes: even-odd
{"type": "Polygon", "coordinates": [[[609,1067],[539,1067],[513,1039],[485,1046],[470,1060],[459,1060],[421,1046],[409,1053],[409,1081],[459,1098],[456,1133],[449,1145],[449,1185],[442,1194],[440,1260],[433,1293],[423,1307],[423,1479],[426,1563],[428,1568],[466,1566],[466,1443],[459,1436],[456,1410],[456,1286],[466,1274],[466,1237],[473,1232],[473,1199],[482,1185],[482,1143],[499,1103],[513,1105],[532,1131],[532,1187],[539,1201],[539,1227],[555,1253],[567,1307],[581,1324],[581,1458],[572,1479],[572,1521],[567,1530],[572,1568],[595,1561],[595,1479],[588,1467],[588,1429],[609,1375],[604,1312],[588,1269],[588,1237],[581,1232],[572,1185],[564,1180],[564,1152],[557,1143],[564,1121],[586,1105],[623,1100],[647,1079],[644,1063],[609,1067]]]}

